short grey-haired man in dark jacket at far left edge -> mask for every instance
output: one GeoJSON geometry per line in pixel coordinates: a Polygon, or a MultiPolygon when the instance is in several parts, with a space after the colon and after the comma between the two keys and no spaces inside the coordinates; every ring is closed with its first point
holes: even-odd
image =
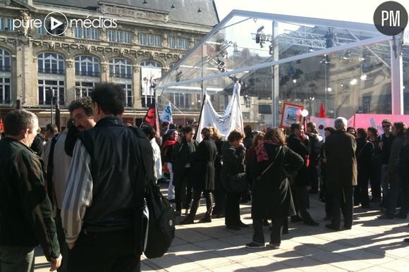
{"type": "Polygon", "coordinates": [[[11,111],[4,128],[6,137],[0,141],[0,271],[33,271],[38,244],[54,271],[61,264],[61,255],[44,186],[44,163],[29,148],[37,134],[37,116],[11,111]]]}

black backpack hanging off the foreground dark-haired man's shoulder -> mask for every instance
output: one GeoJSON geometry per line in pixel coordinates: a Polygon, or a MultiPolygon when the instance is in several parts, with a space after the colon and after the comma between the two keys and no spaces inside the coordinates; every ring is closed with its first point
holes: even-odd
{"type": "Polygon", "coordinates": [[[149,140],[140,128],[129,128],[133,130],[138,139],[145,166],[145,199],[149,210],[149,223],[147,237],[143,237],[142,241],[145,239],[147,241],[144,249],[145,256],[152,259],[163,256],[171,247],[175,237],[176,214],[168,199],[161,194],[160,187],[155,183],[152,146],[149,140]]]}

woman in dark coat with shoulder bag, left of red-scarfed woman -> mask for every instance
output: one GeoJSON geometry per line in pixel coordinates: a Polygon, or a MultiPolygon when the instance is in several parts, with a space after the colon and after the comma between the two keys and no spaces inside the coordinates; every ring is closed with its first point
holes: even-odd
{"type": "MultiPolygon", "coordinates": [[[[243,133],[233,130],[227,137],[221,149],[223,166],[221,168],[221,178],[228,179],[228,175],[244,173],[245,171],[245,147],[243,145],[243,133]]],[[[240,220],[240,197],[241,192],[226,192],[226,214],[224,223],[230,230],[240,230],[248,225],[240,220]]]]}

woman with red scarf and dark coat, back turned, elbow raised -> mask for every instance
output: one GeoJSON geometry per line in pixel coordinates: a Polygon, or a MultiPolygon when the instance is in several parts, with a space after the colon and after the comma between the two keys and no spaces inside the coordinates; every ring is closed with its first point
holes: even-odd
{"type": "Polygon", "coordinates": [[[286,138],[279,128],[267,130],[264,142],[256,148],[252,160],[251,214],[254,235],[252,242],[246,247],[264,247],[263,219],[271,218],[273,225],[269,245],[275,249],[279,248],[284,221],[295,214],[291,188],[284,168],[288,173],[293,173],[298,171],[303,163],[300,155],[286,147],[286,138]]]}

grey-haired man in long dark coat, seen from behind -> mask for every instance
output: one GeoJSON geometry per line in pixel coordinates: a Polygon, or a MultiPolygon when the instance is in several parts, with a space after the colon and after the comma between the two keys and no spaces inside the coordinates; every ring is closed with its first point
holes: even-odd
{"type": "Polygon", "coordinates": [[[343,229],[350,230],[353,216],[353,186],[357,185],[356,140],[346,133],[346,118],[336,118],[336,131],[326,137],[326,183],[331,202],[332,219],[326,228],[341,230],[340,209],[343,214],[343,229]]]}

